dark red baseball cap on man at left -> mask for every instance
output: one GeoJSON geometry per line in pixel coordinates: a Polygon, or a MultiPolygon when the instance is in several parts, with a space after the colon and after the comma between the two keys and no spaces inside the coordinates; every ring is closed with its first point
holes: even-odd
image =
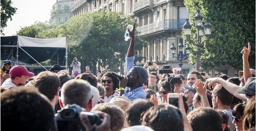
{"type": "Polygon", "coordinates": [[[26,67],[23,67],[21,65],[15,65],[10,70],[11,78],[20,77],[20,76],[23,76],[23,75],[25,75],[25,76],[34,76],[34,73],[29,72],[26,67]]]}

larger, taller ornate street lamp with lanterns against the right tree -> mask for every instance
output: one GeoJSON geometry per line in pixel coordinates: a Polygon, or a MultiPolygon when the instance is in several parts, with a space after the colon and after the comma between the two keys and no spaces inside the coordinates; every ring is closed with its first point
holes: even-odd
{"type": "Polygon", "coordinates": [[[189,21],[188,21],[189,19],[186,19],[186,20],[187,20],[186,23],[183,25],[184,35],[187,36],[185,41],[190,41],[193,45],[197,46],[196,70],[200,71],[200,56],[201,56],[202,51],[200,50],[199,47],[204,44],[204,41],[209,40],[209,36],[211,35],[212,25],[209,22],[209,19],[206,19],[206,23],[204,25],[202,25],[203,16],[200,14],[200,11],[197,10],[197,14],[195,16],[195,24],[196,24],[196,29],[197,29],[197,43],[194,43],[191,39],[189,39],[191,25],[189,24],[189,21]],[[205,35],[207,37],[207,39],[202,41],[201,38],[203,35],[205,35]]]}

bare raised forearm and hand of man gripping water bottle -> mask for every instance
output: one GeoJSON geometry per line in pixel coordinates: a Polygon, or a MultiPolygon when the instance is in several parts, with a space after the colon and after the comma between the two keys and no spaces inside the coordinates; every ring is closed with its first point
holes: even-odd
{"type": "Polygon", "coordinates": [[[130,31],[128,29],[128,32],[129,32],[129,36],[131,37],[131,43],[130,43],[130,46],[128,48],[128,51],[127,51],[127,56],[126,57],[131,57],[131,56],[134,56],[134,41],[135,41],[135,24],[136,23],[136,20],[132,21],[132,25],[133,25],[133,29],[132,31],[130,31]]]}

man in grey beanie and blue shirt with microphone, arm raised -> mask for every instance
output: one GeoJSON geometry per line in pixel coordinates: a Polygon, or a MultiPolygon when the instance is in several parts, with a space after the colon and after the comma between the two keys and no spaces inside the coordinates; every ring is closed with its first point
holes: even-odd
{"type": "Polygon", "coordinates": [[[146,100],[147,94],[143,89],[143,84],[147,82],[148,78],[148,72],[145,68],[140,66],[133,66],[133,62],[135,59],[135,23],[136,21],[132,22],[132,31],[128,29],[129,35],[131,37],[131,43],[129,45],[125,58],[127,76],[122,76],[122,78],[119,80],[119,88],[125,87],[124,97],[128,98],[131,101],[138,98],[146,100]]]}

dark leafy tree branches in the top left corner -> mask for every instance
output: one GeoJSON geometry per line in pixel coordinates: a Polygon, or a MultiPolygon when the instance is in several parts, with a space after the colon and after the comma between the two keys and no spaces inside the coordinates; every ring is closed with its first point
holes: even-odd
{"type": "Polygon", "coordinates": [[[1,35],[4,35],[4,28],[7,27],[7,21],[12,20],[17,8],[11,7],[11,0],[1,0],[1,35]]]}

